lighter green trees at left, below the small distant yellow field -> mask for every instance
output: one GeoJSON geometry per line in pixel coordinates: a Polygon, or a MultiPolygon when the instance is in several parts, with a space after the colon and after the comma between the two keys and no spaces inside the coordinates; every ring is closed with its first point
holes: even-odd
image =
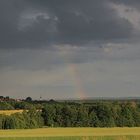
{"type": "Polygon", "coordinates": [[[44,125],[41,112],[37,110],[24,111],[11,115],[0,115],[0,129],[29,129],[44,125]]]}

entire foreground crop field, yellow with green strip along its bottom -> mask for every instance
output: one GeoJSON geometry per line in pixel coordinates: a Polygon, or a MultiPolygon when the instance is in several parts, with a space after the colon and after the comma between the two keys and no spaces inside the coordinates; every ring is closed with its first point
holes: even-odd
{"type": "Polygon", "coordinates": [[[140,140],[140,128],[0,130],[0,140],[140,140]]]}

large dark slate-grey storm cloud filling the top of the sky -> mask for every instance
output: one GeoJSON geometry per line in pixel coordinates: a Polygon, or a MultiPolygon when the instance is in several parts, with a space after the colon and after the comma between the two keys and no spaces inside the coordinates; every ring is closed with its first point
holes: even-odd
{"type": "Polygon", "coordinates": [[[108,0],[0,1],[2,49],[126,39],[132,30],[108,0]]]}

